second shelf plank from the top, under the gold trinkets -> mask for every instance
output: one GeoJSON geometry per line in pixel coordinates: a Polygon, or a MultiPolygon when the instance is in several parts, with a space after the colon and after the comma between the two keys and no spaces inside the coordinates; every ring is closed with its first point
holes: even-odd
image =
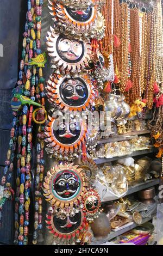
{"type": "Polygon", "coordinates": [[[133,156],[139,156],[139,155],[146,155],[146,154],[151,154],[151,153],[155,153],[157,152],[156,148],[150,148],[150,149],[143,149],[143,150],[137,150],[134,151],[131,154],[128,155],[124,155],[124,156],[115,156],[112,157],[110,159],[107,158],[99,158],[99,159],[95,159],[96,164],[101,164],[101,163],[108,163],[108,162],[112,162],[112,161],[116,161],[116,160],[120,160],[120,159],[124,159],[126,157],[133,157],[133,156]]]}

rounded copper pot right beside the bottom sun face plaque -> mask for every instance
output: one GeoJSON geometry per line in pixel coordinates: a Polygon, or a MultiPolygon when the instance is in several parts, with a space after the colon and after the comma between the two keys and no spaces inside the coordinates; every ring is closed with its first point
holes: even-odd
{"type": "Polygon", "coordinates": [[[110,233],[111,227],[108,217],[104,212],[102,212],[98,218],[95,219],[93,223],[90,224],[93,231],[93,235],[97,240],[103,239],[110,233]]]}

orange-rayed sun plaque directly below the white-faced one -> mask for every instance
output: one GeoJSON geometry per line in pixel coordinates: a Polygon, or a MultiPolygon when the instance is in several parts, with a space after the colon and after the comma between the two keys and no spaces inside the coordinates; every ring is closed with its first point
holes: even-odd
{"type": "Polygon", "coordinates": [[[64,111],[85,111],[95,101],[95,88],[87,75],[67,78],[53,74],[46,90],[49,102],[64,111]]]}

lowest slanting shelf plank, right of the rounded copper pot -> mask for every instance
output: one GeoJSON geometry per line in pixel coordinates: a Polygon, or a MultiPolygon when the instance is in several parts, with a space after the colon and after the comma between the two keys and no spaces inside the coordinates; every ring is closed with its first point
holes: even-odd
{"type": "MultiPolygon", "coordinates": [[[[143,221],[142,221],[142,224],[143,224],[143,223],[146,223],[146,222],[148,222],[148,221],[151,221],[154,216],[155,216],[155,214],[152,215],[152,217],[144,218],[143,221]]],[[[95,239],[94,241],[92,241],[92,245],[102,245],[102,243],[105,243],[105,242],[107,242],[107,241],[109,241],[109,240],[111,240],[111,239],[114,239],[116,236],[120,236],[120,235],[126,233],[127,231],[129,231],[129,230],[131,230],[131,229],[137,227],[137,226],[138,226],[138,225],[137,225],[136,223],[134,223],[134,224],[131,224],[131,225],[129,225],[128,227],[123,228],[123,229],[121,229],[121,230],[118,230],[118,231],[111,231],[110,234],[108,234],[108,236],[105,237],[105,239],[101,239],[101,240],[96,240],[96,239],[95,239]]]]}

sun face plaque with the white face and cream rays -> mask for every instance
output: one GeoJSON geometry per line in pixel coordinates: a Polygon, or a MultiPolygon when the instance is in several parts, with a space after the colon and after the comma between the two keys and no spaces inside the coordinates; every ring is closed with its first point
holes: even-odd
{"type": "Polygon", "coordinates": [[[89,41],[79,41],[55,34],[52,27],[51,32],[48,32],[47,46],[49,56],[53,57],[52,63],[60,70],[79,71],[90,59],[89,41]]]}

